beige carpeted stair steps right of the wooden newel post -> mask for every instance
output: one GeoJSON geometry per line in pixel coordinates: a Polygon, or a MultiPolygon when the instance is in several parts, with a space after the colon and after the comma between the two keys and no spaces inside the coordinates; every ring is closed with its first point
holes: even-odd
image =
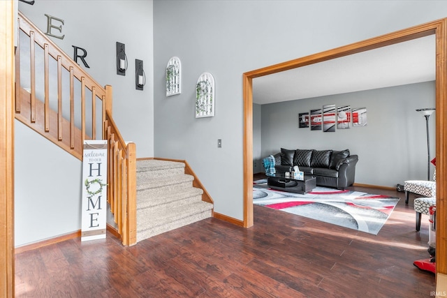
{"type": "Polygon", "coordinates": [[[212,217],[213,204],[193,180],[185,163],[137,161],[137,241],[212,217]]]}

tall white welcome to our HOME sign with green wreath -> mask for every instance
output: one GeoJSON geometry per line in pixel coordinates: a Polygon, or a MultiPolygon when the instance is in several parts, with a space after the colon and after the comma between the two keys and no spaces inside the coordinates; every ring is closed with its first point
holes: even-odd
{"type": "Polygon", "coordinates": [[[107,140],[86,140],[82,162],[81,241],[105,238],[107,140]]]}

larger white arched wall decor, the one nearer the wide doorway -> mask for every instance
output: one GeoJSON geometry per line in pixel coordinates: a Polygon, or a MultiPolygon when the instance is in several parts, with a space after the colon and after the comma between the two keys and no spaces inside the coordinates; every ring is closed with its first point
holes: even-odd
{"type": "Polygon", "coordinates": [[[202,73],[196,84],[196,118],[214,117],[214,77],[202,73]]]}

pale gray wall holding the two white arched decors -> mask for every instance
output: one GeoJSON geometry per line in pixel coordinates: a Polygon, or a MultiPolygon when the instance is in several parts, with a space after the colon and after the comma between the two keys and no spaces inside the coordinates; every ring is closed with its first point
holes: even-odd
{"type": "Polygon", "coordinates": [[[189,161],[214,210],[242,219],[242,73],[437,20],[446,11],[447,1],[154,1],[155,156],[189,161]],[[182,60],[183,91],[166,98],[165,68],[173,56],[182,60]],[[216,80],[216,116],[195,119],[194,87],[205,71],[216,80]]]}

